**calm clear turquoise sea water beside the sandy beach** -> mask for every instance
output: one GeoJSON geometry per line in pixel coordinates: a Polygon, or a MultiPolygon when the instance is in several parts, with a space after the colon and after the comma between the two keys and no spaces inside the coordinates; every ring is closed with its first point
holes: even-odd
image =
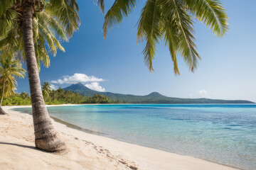
{"type": "MultiPolygon", "coordinates": [[[[31,113],[31,108],[16,111],[31,113]]],[[[117,140],[256,169],[256,105],[90,105],[48,111],[117,140]]]]}

